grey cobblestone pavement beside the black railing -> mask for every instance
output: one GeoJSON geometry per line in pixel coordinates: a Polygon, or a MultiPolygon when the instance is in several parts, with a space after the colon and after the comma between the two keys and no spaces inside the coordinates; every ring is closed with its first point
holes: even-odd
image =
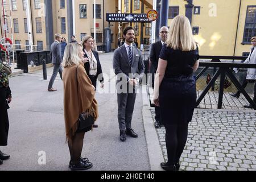
{"type": "MultiPolygon", "coordinates": [[[[151,109],[154,117],[155,110],[151,109]]],[[[256,171],[256,113],[196,109],[180,158],[185,171],[256,171]]],[[[167,162],[165,129],[156,129],[167,162]]]]}

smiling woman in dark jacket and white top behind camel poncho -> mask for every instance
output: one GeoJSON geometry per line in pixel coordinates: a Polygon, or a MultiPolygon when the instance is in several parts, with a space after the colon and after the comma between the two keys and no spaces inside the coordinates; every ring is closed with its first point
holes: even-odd
{"type": "MultiPolygon", "coordinates": [[[[96,90],[97,79],[101,82],[101,88],[104,88],[104,77],[102,75],[101,63],[98,57],[98,52],[93,51],[94,39],[92,36],[87,35],[82,38],[82,46],[85,53],[86,62],[84,64],[85,71],[92,81],[92,84],[96,90]]],[[[98,127],[98,125],[93,125],[93,127],[98,127]]]]}

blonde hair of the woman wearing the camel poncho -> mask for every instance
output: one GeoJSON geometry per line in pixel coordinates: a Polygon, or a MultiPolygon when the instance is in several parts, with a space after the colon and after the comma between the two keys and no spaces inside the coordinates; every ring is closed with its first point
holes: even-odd
{"type": "Polygon", "coordinates": [[[79,48],[82,48],[80,43],[69,43],[65,47],[63,57],[64,68],[70,67],[73,64],[79,65],[79,62],[81,61],[79,48]]]}

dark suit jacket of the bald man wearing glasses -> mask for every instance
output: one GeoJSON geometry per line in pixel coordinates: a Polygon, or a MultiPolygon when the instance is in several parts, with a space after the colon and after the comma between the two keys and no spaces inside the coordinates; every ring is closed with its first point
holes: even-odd
{"type": "Polygon", "coordinates": [[[154,73],[156,73],[156,69],[158,69],[158,59],[159,59],[162,47],[163,47],[163,44],[161,40],[159,40],[158,42],[155,42],[151,46],[150,60],[154,68],[154,73]]]}

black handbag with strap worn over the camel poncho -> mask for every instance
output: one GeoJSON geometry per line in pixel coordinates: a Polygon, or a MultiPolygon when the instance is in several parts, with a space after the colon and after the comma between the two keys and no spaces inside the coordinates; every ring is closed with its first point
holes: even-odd
{"type": "MultiPolygon", "coordinates": [[[[77,67],[78,69],[79,67],[77,67]]],[[[78,96],[78,80],[77,80],[77,74],[78,74],[78,71],[76,69],[76,81],[77,81],[77,96],[78,96]]],[[[86,113],[86,112],[82,112],[81,114],[79,114],[79,119],[78,119],[78,122],[79,122],[79,127],[78,127],[78,130],[83,130],[83,129],[86,129],[87,127],[90,127],[94,124],[94,118],[93,116],[90,114],[90,113],[86,113]]]]}

